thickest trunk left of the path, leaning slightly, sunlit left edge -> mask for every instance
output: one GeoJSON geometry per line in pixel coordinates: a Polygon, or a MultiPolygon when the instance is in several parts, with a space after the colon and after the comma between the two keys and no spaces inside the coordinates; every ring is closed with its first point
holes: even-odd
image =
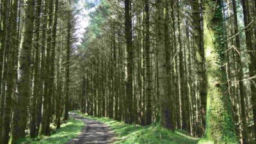
{"type": "Polygon", "coordinates": [[[20,40],[17,101],[13,113],[12,140],[25,138],[27,106],[30,94],[30,57],[34,22],[34,0],[24,1],[24,25],[20,40]]]}

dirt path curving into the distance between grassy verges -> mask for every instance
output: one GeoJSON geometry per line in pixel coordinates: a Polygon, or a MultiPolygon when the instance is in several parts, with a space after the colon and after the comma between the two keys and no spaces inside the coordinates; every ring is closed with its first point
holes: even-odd
{"type": "Polygon", "coordinates": [[[67,144],[113,143],[115,134],[108,125],[98,122],[97,120],[84,118],[75,113],[69,113],[69,115],[82,120],[86,125],[82,129],[81,134],[79,134],[77,138],[68,141],[67,144]]]}

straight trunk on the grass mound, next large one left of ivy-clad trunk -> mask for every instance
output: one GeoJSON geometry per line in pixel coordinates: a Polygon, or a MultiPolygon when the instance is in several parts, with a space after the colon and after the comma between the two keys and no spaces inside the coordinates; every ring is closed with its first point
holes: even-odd
{"type": "Polygon", "coordinates": [[[164,1],[157,0],[157,60],[159,70],[159,106],[161,125],[167,129],[174,129],[171,123],[171,109],[170,97],[168,95],[168,75],[166,72],[166,47],[165,47],[165,33],[164,33],[164,1]]]}

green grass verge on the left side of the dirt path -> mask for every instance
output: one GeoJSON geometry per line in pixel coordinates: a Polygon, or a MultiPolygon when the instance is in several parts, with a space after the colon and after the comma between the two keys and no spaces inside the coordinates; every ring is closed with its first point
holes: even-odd
{"type": "Polygon", "coordinates": [[[20,140],[18,144],[63,144],[67,143],[70,139],[76,138],[76,136],[81,132],[84,127],[84,123],[81,120],[76,120],[70,118],[64,124],[61,124],[61,128],[52,132],[51,136],[42,136],[41,138],[26,138],[25,140],[20,140]]]}

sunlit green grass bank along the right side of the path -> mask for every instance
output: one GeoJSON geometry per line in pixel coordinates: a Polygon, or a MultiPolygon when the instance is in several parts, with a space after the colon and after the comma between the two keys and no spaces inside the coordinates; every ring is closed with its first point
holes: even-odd
{"type": "Polygon", "coordinates": [[[199,140],[198,138],[188,136],[184,131],[177,130],[175,132],[171,132],[156,124],[149,126],[131,125],[124,124],[123,122],[118,122],[110,118],[97,118],[84,114],[79,115],[108,124],[116,133],[115,143],[196,144],[199,140]]]}

